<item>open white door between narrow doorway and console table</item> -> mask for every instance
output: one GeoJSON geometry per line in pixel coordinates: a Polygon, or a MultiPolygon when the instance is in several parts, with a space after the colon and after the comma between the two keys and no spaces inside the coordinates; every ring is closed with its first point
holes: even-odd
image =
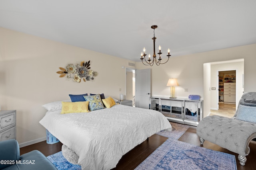
{"type": "Polygon", "coordinates": [[[149,109],[149,97],[151,93],[150,68],[136,70],[136,104],[135,107],[149,109]]]}

